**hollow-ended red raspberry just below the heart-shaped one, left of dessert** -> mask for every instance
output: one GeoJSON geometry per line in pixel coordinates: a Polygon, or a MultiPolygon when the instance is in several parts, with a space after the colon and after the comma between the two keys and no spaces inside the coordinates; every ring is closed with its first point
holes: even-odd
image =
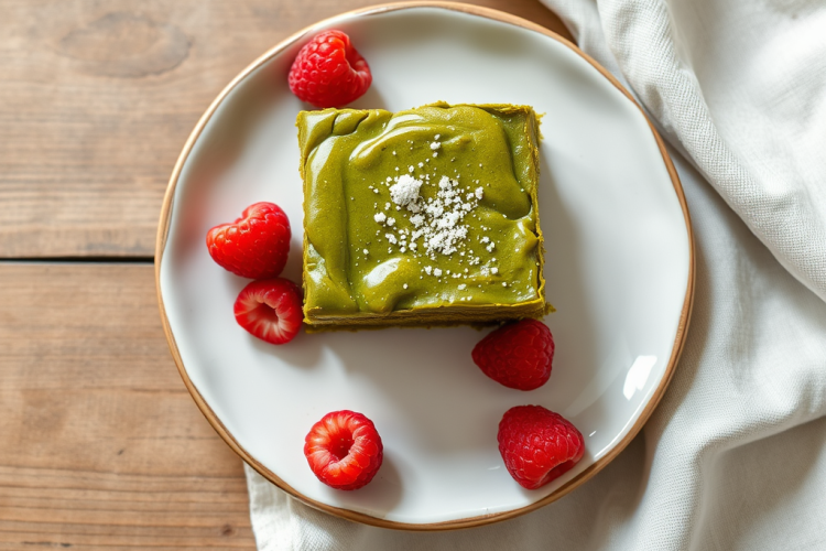
{"type": "Polygon", "coordinates": [[[253,281],[236,299],[236,321],[262,341],[289,343],[301,329],[301,289],[290,280],[253,281]]]}

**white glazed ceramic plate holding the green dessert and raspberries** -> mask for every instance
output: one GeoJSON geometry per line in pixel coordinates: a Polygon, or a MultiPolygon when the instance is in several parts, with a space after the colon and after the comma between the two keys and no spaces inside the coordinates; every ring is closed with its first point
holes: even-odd
{"type": "Polygon", "coordinates": [[[237,77],[193,132],[172,176],[156,258],[164,323],[187,387],[227,442],[282,488],[324,510],[378,526],[447,529],[550,503],[604,467],[659,401],[682,348],[693,289],[682,190],[639,107],[573,45],[517,18],[460,4],[385,6],[324,21],[237,77]],[[542,119],[540,212],[546,236],[545,322],[553,375],[521,392],[486,378],[469,328],[300,334],[264,344],[239,327],[247,283],[215,264],[207,229],[249,204],[287,213],[301,281],[302,183],[295,116],[307,106],[286,73],[320,29],[347,32],[373,84],[354,107],[436,100],[534,106],[542,119]],[[521,488],[497,450],[513,406],[562,413],[585,435],[569,473],[521,488]],[[304,436],[325,413],[376,422],[384,464],[367,487],[337,491],[311,473],[304,436]]]}

